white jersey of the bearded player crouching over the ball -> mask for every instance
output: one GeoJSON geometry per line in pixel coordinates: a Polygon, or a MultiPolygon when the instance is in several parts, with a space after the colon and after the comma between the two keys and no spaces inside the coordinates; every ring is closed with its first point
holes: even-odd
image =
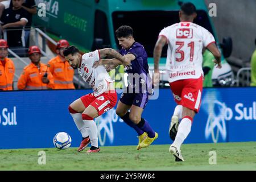
{"type": "Polygon", "coordinates": [[[96,50],[82,55],[81,66],[78,69],[79,75],[93,88],[94,96],[108,90],[109,82],[113,82],[105,67],[100,65],[93,68],[93,63],[100,60],[100,51],[96,50]]]}

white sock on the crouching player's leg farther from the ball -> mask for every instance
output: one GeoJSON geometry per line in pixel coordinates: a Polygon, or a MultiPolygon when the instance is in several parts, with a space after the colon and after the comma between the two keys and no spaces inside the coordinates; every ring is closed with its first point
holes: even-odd
{"type": "Polygon", "coordinates": [[[83,121],[88,131],[90,142],[92,142],[91,146],[98,148],[98,130],[97,130],[96,123],[93,120],[83,120],[83,121]]]}

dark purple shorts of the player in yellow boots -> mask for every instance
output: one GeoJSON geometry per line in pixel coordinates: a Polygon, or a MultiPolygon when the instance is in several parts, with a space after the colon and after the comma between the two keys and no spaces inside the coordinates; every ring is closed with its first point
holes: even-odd
{"type": "Polygon", "coordinates": [[[120,101],[126,105],[135,105],[144,109],[148,101],[148,93],[122,93],[120,101]]]}

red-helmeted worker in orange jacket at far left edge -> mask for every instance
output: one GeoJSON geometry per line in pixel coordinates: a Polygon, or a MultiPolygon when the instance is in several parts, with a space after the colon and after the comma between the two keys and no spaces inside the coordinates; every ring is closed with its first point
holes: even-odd
{"type": "Polygon", "coordinates": [[[13,90],[14,63],[8,56],[8,45],[0,39],[0,90],[13,90]]]}

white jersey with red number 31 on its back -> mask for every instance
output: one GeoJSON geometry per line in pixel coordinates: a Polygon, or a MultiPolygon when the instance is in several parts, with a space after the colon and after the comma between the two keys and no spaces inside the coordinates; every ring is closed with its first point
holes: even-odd
{"type": "Polygon", "coordinates": [[[168,40],[166,69],[169,82],[199,78],[203,74],[203,48],[215,43],[208,30],[195,23],[180,22],[163,28],[159,36],[168,40]]]}

